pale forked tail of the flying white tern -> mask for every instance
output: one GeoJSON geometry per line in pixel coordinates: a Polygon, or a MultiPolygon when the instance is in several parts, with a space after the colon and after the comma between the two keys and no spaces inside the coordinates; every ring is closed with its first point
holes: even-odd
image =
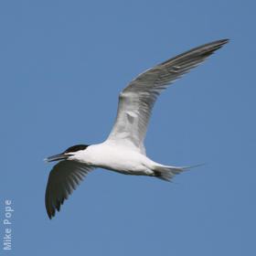
{"type": "Polygon", "coordinates": [[[164,179],[169,182],[173,182],[172,178],[176,175],[179,175],[181,172],[189,169],[194,168],[200,165],[191,165],[191,166],[182,166],[182,167],[176,167],[176,166],[167,166],[167,165],[158,165],[155,167],[155,177],[164,179]]]}

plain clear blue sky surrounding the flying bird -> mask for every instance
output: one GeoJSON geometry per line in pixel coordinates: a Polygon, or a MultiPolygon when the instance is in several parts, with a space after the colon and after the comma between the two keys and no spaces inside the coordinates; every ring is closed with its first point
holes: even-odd
{"type": "Polygon", "coordinates": [[[1,1],[1,237],[5,199],[15,208],[5,255],[255,255],[255,7],[1,1]],[[43,158],[103,141],[144,69],[227,37],[160,96],[145,141],[156,162],[207,165],[180,185],[97,169],[49,220],[43,158]]]}

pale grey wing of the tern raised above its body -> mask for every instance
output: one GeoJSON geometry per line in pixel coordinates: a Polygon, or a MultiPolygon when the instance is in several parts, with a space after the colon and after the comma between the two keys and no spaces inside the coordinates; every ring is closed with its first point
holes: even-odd
{"type": "Polygon", "coordinates": [[[117,117],[108,141],[145,154],[144,137],[159,93],[228,42],[223,39],[193,48],[139,75],[119,95],[117,117]]]}

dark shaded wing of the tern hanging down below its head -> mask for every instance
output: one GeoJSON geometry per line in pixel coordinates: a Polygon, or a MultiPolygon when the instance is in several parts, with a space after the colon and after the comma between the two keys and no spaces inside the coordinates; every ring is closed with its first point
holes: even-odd
{"type": "Polygon", "coordinates": [[[65,199],[68,199],[80,181],[91,172],[94,167],[80,164],[76,161],[64,160],[54,165],[49,176],[46,189],[45,204],[48,218],[55,216],[55,210],[60,209],[65,199]]]}

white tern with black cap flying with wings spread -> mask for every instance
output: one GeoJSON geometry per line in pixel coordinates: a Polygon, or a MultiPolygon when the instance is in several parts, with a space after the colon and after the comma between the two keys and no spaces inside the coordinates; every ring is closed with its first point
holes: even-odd
{"type": "Polygon", "coordinates": [[[59,155],[46,158],[47,162],[59,161],[48,176],[45,195],[48,218],[55,216],[56,209],[59,211],[64,200],[96,167],[172,181],[174,176],[196,166],[161,165],[148,158],[144,148],[147,126],[160,92],[228,42],[229,39],[211,42],[147,69],[120,93],[116,120],[106,141],[73,145],[59,155]]]}

